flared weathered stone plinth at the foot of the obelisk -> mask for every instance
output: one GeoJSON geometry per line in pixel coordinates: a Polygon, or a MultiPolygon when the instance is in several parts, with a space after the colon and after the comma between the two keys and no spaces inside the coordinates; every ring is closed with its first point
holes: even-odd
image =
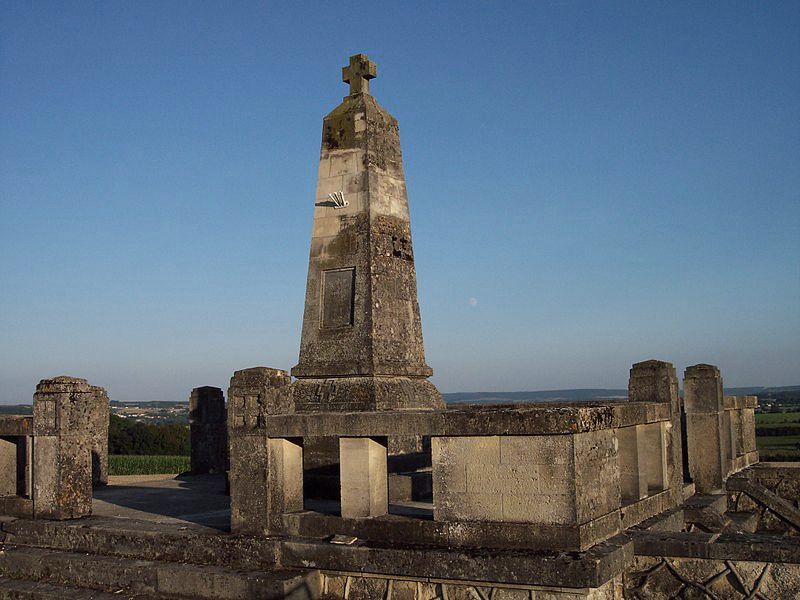
{"type": "Polygon", "coordinates": [[[430,381],[411,377],[298,379],[292,384],[297,412],[443,409],[430,381]]]}

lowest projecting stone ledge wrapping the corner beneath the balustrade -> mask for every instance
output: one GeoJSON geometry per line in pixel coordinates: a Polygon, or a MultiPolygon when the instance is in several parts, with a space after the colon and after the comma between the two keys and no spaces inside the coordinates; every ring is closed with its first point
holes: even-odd
{"type": "Polygon", "coordinates": [[[587,552],[464,550],[413,545],[338,546],[320,540],[286,540],[284,568],[346,571],[416,578],[487,581],[512,585],[600,587],[633,560],[633,544],[618,536],[587,552]]]}

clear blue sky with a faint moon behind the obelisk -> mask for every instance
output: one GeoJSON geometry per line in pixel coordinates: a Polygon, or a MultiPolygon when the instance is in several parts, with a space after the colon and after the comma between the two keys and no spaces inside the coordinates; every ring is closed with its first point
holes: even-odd
{"type": "Polygon", "coordinates": [[[322,117],[400,121],[444,392],[800,384],[798,2],[0,3],[0,402],[297,361],[322,117]]]}

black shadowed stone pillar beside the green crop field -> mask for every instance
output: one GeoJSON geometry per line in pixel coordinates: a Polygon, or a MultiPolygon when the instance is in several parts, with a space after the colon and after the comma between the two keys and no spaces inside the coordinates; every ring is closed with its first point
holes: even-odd
{"type": "Polygon", "coordinates": [[[228,470],[228,420],[225,397],[215,387],[199,387],[189,396],[189,441],[193,475],[228,470]]]}

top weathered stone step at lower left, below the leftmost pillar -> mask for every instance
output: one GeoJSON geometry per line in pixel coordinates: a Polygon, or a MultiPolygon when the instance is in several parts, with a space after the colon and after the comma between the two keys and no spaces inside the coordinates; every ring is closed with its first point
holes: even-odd
{"type": "Polygon", "coordinates": [[[2,540],[15,545],[120,558],[262,571],[274,568],[277,562],[277,543],[273,540],[133,519],[6,519],[0,523],[0,534],[2,540]]]}

